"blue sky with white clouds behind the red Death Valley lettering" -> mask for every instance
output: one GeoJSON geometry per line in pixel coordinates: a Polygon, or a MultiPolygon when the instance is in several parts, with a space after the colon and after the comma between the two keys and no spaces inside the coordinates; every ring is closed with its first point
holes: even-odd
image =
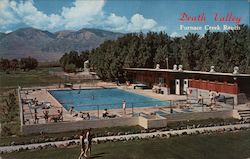
{"type": "MultiPolygon", "coordinates": [[[[0,0],[0,32],[33,27],[50,32],[97,28],[114,32],[164,31],[171,36],[202,30],[184,30],[183,26],[237,25],[218,22],[227,14],[249,25],[248,0],[0,0]],[[205,22],[182,22],[181,15],[204,14],[205,22]]],[[[221,29],[222,30],[222,29],[221,29]]],[[[219,30],[219,31],[221,31],[219,30]]],[[[215,30],[218,31],[218,30],[215,30]]]]}

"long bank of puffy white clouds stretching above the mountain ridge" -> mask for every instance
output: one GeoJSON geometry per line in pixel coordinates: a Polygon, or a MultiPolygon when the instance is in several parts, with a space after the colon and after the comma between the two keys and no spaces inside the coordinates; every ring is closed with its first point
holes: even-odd
{"type": "Polygon", "coordinates": [[[75,0],[71,7],[63,7],[61,13],[47,15],[38,10],[34,1],[2,0],[0,2],[0,31],[11,26],[25,25],[43,30],[100,28],[119,32],[160,31],[154,19],[134,14],[130,19],[115,13],[107,14],[104,0],[75,0]]]}

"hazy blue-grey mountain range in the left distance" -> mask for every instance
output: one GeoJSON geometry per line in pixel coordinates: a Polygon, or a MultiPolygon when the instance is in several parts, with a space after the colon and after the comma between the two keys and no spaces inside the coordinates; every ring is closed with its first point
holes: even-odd
{"type": "Polygon", "coordinates": [[[122,33],[99,29],[64,30],[51,33],[34,28],[0,33],[0,57],[32,56],[40,61],[58,60],[65,52],[84,51],[98,47],[105,40],[115,40],[122,33]]]}

